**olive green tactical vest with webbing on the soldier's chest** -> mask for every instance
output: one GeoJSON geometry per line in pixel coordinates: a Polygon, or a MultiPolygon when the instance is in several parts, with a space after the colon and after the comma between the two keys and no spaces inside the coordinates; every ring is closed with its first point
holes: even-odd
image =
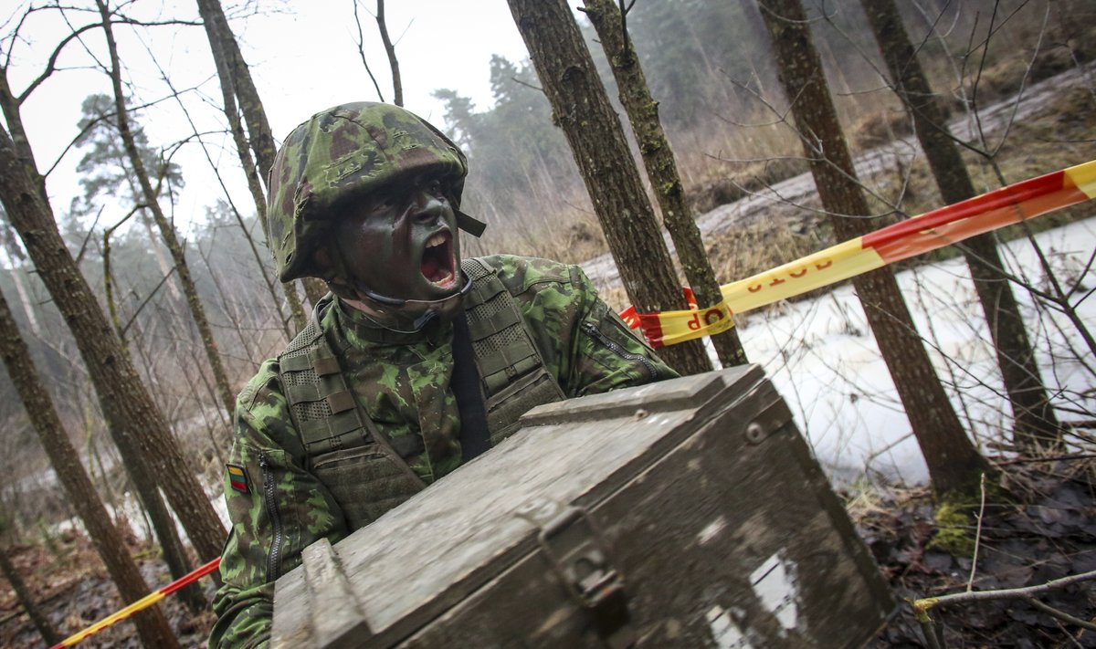
{"type": "MultiPolygon", "coordinates": [[[[524,412],[567,397],[545,368],[517,301],[495,269],[479,259],[465,260],[460,267],[472,282],[465,314],[494,445],[517,430],[524,412]]],[[[308,326],[278,356],[278,372],[305,445],[306,468],[334,497],[350,528],[357,530],[424,486],[354,398],[319,326],[330,305],[316,305],[308,326]]]]}

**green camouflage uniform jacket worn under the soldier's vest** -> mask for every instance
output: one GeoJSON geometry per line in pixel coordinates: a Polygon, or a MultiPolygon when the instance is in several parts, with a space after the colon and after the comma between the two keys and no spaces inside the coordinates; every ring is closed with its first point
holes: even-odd
{"type": "MultiPolygon", "coordinates": [[[[568,398],[676,376],[597,297],[578,266],[507,255],[482,261],[498,270],[545,368],[568,398]]],[[[452,324],[393,334],[370,327],[336,299],[322,311],[320,327],[341,354],[355,398],[419,477],[430,483],[457,468],[460,420],[448,387],[452,324]]],[[[356,526],[347,521],[354,516],[336,501],[349,500],[336,498],[339,486],[318,475],[319,463],[307,456],[287,409],[277,360],[266,361],[237,402],[225,482],[232,526],[221,556],[224,587],[214,602],[218,620],[210,648],[264,646],[273,581],[300,563],[309,544],[321,537],[335,543],[369,520],[357,516],[356,526]],[[269,508],[266,498],[275,499],[275,506],[269,508]]],[[[370,503],[370,519],[401,501],[370,503]]]]}

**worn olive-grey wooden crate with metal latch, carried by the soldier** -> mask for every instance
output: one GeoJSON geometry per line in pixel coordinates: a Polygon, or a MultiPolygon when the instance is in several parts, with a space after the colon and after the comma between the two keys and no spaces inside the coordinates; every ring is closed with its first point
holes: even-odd
{"type": "Polygon", "coordinates": [[[278,579],[275,647],[858,647],[894,607],[757,366],[551,403],[278,579]]]}

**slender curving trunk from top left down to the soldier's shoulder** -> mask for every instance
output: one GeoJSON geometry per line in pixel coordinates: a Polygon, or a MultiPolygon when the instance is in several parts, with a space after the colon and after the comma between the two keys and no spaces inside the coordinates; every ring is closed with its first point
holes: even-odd
{"type": "Polygon", "coordinates": [[[194,285],[194,280],[191,277],[191,269],[186,264],[186,255],[183,252],[183,247],[175,236],[175,228],[168,220],[168,217],[164,216],[163,209],[160,207],[157,193],[152,189],[148,171],[145,169],[145,162],[140,158],[140,151],[137,150],[137,143],[134,141],[133,133],[129,130],[129,119],[126,117],[126,100],[122,91],[122,64],[118,60],[117,44],[114,42],[114,30],[111,27],[111,12],[106,7],[105,0],[95,0],[95,4],[99,7],[99,14],[103,19],[103,32],[106,34],[106,47],[111,55],[111,82],[114,87],[114,110],[117,113],[118,134],[122,136],[126,153],[129,156],[129,164],[133,167],[134,175],[137,177],[137,182],[140,184],[141,195],[145,196],[145,202],[152,212],[152,218],[160,229],[160,236],[168,246],[168,252],[171,253],[171,259],[175,263],[175,273],[183,284],[186,305],[190,307],[191,316],[194,318],[194,324],[198,328],[198,335],[202,338],[202,344],[205,348],[206,360],[213,369],[217,391],[221,403],[225,406],[225,411],[231,418],[232,412],[236,410],[236,394],[229,386],[228,374],[225,372],[225,363],[217,351],[217,341],[213,337],[209,319],[206,317],[205,307],[198,297],[197,286],[194,285]]]}

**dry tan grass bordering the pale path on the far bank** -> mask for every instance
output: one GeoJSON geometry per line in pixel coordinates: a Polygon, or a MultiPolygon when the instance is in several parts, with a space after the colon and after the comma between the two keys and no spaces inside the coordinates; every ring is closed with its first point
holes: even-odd
{"type": "MultiPolygon", "coordinates": [[[[1062,47],[1047,48],[1027,72],[1026,82],[1057,73],[1073,64],[1070,52],[1062,47]]],[[[1081,58],[1087,58],[1082,56],[1081,58]]],[[[1020,87],[1025,77],[1026,59],[1005,57],[987,66],[979,79],[979,103],[1008,95],[1020,87]]],[[[958,94],[958,93],[955,93],[958,94]]],[[[954,95],[946,110],[954,113],[962,103],[954,95]]],[[[835,92],[842,123],[854,153],[891,141],[913,140],[910,121],[894,95],[886,89],[870,93],[835,92]]],[[[1015,182],[1092,157],[1092,143],[1096,139],[1096,93],[1076,88],[1062,94],[1047,114],[1025,124],[1014,125],[1009,138],[996,151],[996,163],[1006,181],[1015,182]]],[[[685,182],[695,214],[704,214],[720,205],[733,203],[751,192],[756,192],[781,180],[808,171],[801,157],[801,145],[788,123],[778,118],[775,109],[755,106],[749,115],[734,119],[721,118],[719,124],[693,133],[671,134],[677,155],[678,170],[685,182]]],[[[979,191],[1000,186],[996,172],[985,156],[966,151],[964,158],[979,191]]],[[[871,208],[877,214],[898,210],[902,215],[916,215],[941,205],[927,166],[918,158],[912,166],[895,164],[865,182],[870,183],[871,208]]],[[[582,187],[553,195],[551,205],[537,204],[543,212],[534,216],[515,218],[507,224],[493,224],[491,239],[480,242],[482,251],[505,250],[581,263],[608,252],[605,237],[590,209],[589,198],[582,187]]],[[[652,204],[654,204],[652,197],[652,204]]],[[[768,270],[781,263],[833,244],[832,232],[825,220],[795,206],[778,206],[766,215],[765,221],[706,237],[706,246],[716,276],[729,283],[768,270]]],[[[1076,218],[1082,210],[1063,210],[1036,221],[1037,227],[1052,227],[1076,218]]],[[[886,225],[880,219],[879,225],[886,225]]],[[[1003,236],[1015,236],[1004,232],[1003,236]]],[[[934,255],[954,255],[946,249],[934,255]]],[[[915,262],[913,262],[915,263],[915,262]]],[[[678,272],[683,284],[684,276],[678,272]]],[[[606,300],[615,308],[629,304],[623,288],[603,289],[606,300]]]]}

